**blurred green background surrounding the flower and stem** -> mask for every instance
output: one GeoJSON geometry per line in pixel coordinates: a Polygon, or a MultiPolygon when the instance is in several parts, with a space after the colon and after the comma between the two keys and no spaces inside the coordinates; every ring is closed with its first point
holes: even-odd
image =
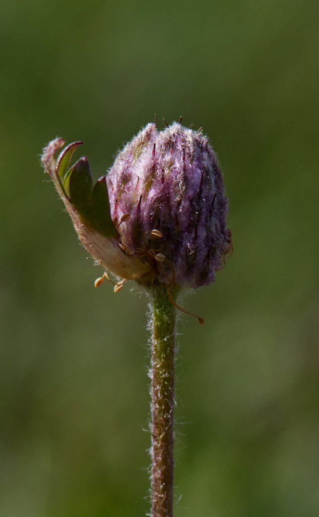
{"type": "Polygon", "coordinates": [[[149,509],[147,300],[94,289],[39,155],[81,139],[98,178],[154,113],[210,136],[234,241],[184,301],[205,326],[179,323],[176,516],[319,514],[318,22],[311,0],[1,3],[1,517],[149,509]]]}

